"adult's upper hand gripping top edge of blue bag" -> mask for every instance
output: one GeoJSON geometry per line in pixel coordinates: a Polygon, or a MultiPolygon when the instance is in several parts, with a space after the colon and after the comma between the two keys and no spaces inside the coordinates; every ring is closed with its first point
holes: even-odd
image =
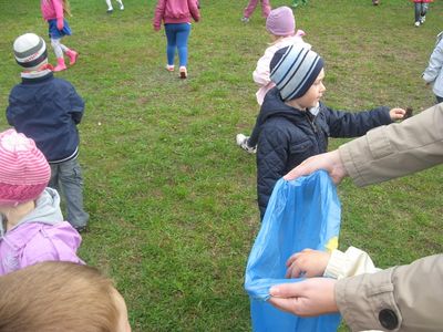
{"type": "Polygon", "coordinates": [[[316,155],[306,159],[296,168],[290,170],[287,175],[285,175],[284,178],[286,180],[291,180],[303,175],[309,175],[319,169],[324,169],[328,172],[336,185],[340,184],[343,177],[348,176],[348,172],[341,162],[339,151],[336,149],[330,153],[316,155]]]}

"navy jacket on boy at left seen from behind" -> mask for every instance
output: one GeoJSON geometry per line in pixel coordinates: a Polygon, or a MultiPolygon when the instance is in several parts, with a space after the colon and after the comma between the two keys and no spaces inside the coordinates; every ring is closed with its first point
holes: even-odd
{"type": "Polygon", "coordinates": [[[50,163],[76,157],[76,125],[83,116],[84,102],[68,81],[52,73],[22,79],[9,95],[8,123],[17,132],[35,141],[50,163]]]}

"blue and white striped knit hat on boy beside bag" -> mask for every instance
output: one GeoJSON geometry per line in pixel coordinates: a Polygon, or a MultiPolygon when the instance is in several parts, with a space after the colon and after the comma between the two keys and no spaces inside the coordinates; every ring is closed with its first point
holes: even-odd
{"type": "Polygon", "coordinates": [[[280,49],[270,61],[270,80],[284,101],[303,96],[323,68],[316,52],[301,45],[280,49]]]}

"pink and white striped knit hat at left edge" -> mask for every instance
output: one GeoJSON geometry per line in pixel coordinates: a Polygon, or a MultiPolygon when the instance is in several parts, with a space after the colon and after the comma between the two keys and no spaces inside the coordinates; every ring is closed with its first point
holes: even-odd
{"type": "Polygon", "coordinates": [[[51,167],[31,138],[14,129],[0,133],[0,205],[35,199],[50,177],[51,167]]]}

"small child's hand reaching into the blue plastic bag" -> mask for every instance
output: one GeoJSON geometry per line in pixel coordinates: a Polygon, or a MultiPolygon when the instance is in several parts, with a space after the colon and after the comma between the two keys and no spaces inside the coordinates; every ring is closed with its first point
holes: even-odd
{"type": "Polygon", "coordinates": [[[320,277],[328,266],[330,253],[319,250],[305,249],[293,253],[286,262],[288,270],[285,278],[320,277]]]}

